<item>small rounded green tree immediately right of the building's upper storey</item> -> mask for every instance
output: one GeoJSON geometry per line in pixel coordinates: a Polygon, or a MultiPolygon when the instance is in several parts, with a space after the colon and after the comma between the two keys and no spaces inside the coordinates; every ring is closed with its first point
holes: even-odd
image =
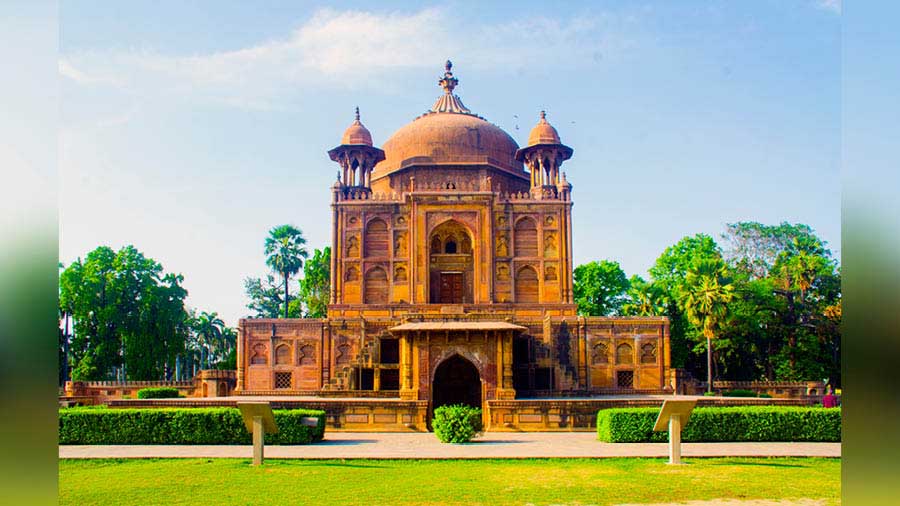
{"type": "Polygon", "coordinates": [[[579,265],[573,272],[573,293],[578,313],[586,316],[620,314],[628,278],[618,262],[602,260],[579,265]]]}

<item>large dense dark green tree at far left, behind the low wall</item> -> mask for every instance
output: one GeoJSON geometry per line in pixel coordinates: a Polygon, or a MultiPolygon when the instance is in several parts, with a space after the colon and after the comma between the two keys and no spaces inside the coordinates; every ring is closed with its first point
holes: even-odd
{"type": "Polygon", "coordinates": [[[59,304],[74,322],[65,343],[73,378],[112,379],[123,367],[127,379],[163,377],[188,334],[182,282],[133,246],[101,246],[72,262],[60,273],[59,304]]]}

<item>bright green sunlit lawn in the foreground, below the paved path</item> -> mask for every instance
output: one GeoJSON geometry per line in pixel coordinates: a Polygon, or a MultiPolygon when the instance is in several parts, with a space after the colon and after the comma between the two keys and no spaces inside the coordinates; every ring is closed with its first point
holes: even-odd
{"type": "Polygon", "coordinates": [[[821,458],[529,460],[61,460],[60,504],[617,504],[825,499],[841,461],[821,458]]]}

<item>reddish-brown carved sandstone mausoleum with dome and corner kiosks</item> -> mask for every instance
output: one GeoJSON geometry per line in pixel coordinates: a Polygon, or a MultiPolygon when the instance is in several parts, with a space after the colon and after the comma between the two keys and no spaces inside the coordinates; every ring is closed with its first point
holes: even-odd
{"type": "Polygon", "coordinates": [[[667,391],[666,318],[577,316],[560,170],[572,149],[543,113],[520,149],[462,105],[457,83],[448,62],[444,95],[383,151],[358,113],[329,151],[341,170],[328,317],[241,320],[239,393],[431,409],[667,391]]]}

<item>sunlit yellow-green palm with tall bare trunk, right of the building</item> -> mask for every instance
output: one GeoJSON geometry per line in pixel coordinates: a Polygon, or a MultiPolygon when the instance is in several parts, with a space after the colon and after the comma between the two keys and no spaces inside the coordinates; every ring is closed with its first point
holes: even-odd
{"type": "Polygon", "coordinates": [[[706,391],[712,392],[712,340],[728,314],[734,286],[727,280],[721,258],[694,262],[685,278],[684,311],[688,320],[706,337],[706,391]]]}

